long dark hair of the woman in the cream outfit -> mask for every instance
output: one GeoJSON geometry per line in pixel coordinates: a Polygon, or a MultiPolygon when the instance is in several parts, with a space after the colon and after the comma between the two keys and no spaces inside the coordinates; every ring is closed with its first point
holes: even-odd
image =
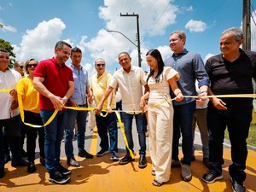
{"type": "MultiPolygon", "coordinates": [[[[146,54],[147,55],[151,55],[153,56],[158,62],[157,62],[157,65],[158,65],[158,73],[155,77],[155,82],[156,83],[159,83],[160,81],[160,74],[163,73],[164,71],[164,67],[165,67],[165,63],[162,59],[162,56],[160,54],[160,51],[158,49],[151,49],[151,50],[148,50],[148,53],[146,54]]],[[[154,75],[154,70],[153,69],[150,69],[150,73],[148,75],[148,79],[154,75]]],[[[148,79],[147,79],[147,82],[148,82],[148,79]]]]}

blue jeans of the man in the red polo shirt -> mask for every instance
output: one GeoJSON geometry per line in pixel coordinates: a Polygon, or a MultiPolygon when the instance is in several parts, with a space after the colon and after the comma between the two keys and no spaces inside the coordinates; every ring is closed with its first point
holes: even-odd
{"type": "MultiPolygon", "coordinates": [[[[41,110],[43,123],[54,113],[52,110],[41,110]]],[[[59,111],[55,119],[49,125],[44,127],[44,154],[45,166],[47,171],[55,172],[60,165],[61,140],[64,134],[65,122],[67,120],[67,111],[59,111]]]]}

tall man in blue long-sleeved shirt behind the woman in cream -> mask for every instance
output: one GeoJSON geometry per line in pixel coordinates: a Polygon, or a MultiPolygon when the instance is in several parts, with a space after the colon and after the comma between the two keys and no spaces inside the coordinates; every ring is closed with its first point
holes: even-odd
{"type": "MultiPolygon", "coordinates": [[[[180,75],[177,82],[182,90],[183,96],[196,96],[195,79],[198,80],[200,89],[200,98],[207,96],[209,79],[201,59],[201,55],[193,53],[184,48],[186,35],[183,31],[172,32],[170,35],[170,47],[173,51],[172,57],[169,57],[165,64],[174,68],[180,75]]],[[[199,100],[201,101],[201,99],[199,100]]],[[[178,140],[180,132],[183,137],[183,160],[182,160],[182,178],[189,182],[192,178],[190,164],[193,148],[192,137],[192,119],[195,113],[195,98],[184,97],[182,102],[173,102],[173,140],[172,140],[172,166],[178,160],[178,140]]],[[[178,164],[177,164],[178,162],[178,164]]]]}

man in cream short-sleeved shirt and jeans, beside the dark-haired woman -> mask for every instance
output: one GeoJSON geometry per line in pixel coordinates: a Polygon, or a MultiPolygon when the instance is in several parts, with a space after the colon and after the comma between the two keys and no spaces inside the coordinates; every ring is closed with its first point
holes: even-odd
{"type": "MultiPolygon", "coordinates": [[[[119,64],[122,68],[113,73],[113,79],[108,84],[108,89],[105,91],[102,101],[96,108],[96,113],[99,114],[102,111],[102,104],[108,98],[109,94],[119,86],[119,90],[122,96],[123,107],[123,121],[125,125],[125,136],[128,141],[129,148],[133,151],[133,139],[131,133],[132,119],[135,116],[137,124],[137,133],[140,144],[140,160],[139,168],[147,166],[146,160],[146,136],[143,126],[143,113],[139,108],[140,98],[143,96],[143,85],[145,90],[148,90],[148,85],[144,81],[144,72],[141,67],[131,66],[131,57],[127,52],[122,52],[118,55],[119,64]]],[[[126,148],[126,155],[119,160],[119,165],[125,165],[134,159],[131,158],[129,149],[126,148]]]]}

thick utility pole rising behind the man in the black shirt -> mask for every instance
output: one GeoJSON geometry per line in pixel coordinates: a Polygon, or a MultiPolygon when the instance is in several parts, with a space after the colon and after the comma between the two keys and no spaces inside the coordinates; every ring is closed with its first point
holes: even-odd
{"type": "Polygon", "coordinates": [[[244,41],[242,49],[251,50],[251,0],[243,0],[242,7],[242,31],[244,41]]]}

